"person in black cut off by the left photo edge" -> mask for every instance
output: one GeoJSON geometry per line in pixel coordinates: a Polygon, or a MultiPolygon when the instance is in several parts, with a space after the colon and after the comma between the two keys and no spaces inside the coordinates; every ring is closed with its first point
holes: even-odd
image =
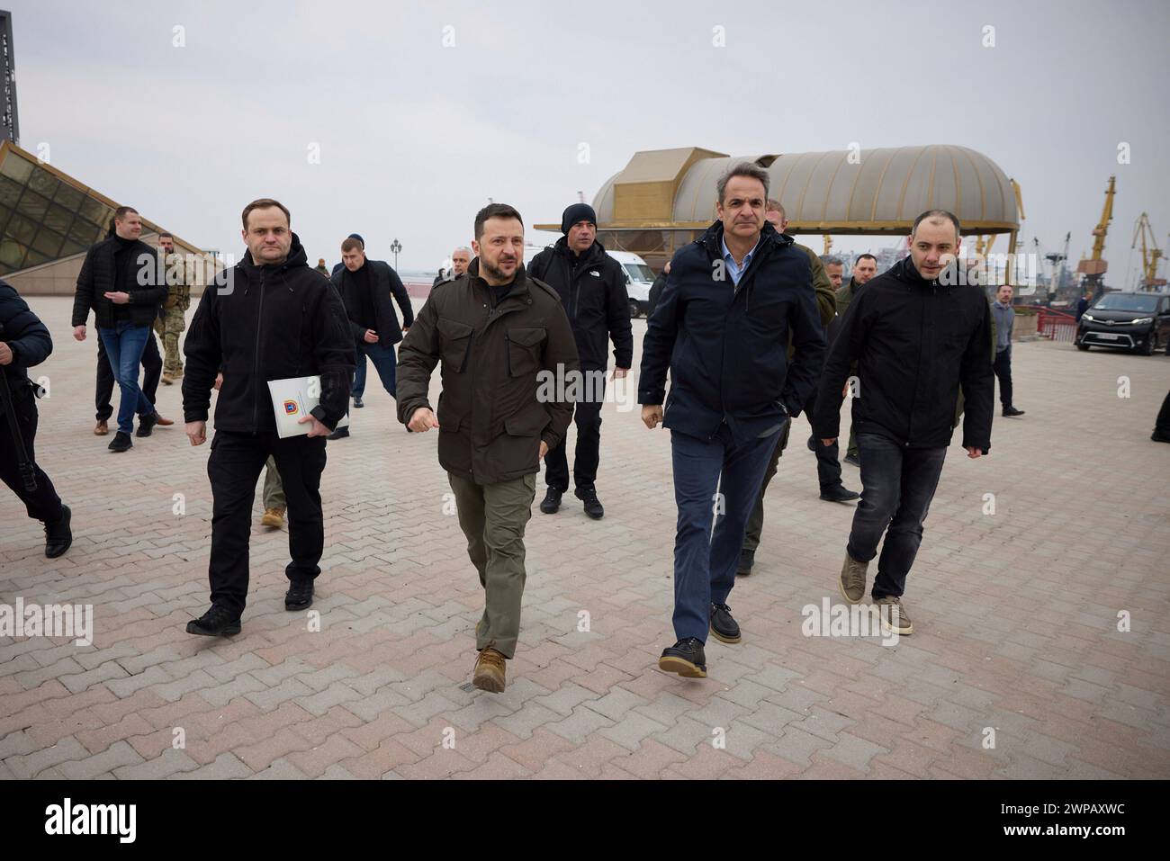
{"type": "Polygon", "coordinates": [[[49,330],[20,294],[0,281],[0,372],[12,399],[13,418],[27,457],[26,467],[32,470],[36,487],[29,490],[25,485],[18,445],[12,436],[12,420],[4,409],[4,401],[0,401],[0,481],[20,497],[29,517],[44,524],[44,555],[50,559],[64,553],[73,543],[70,512],[68,505],[61,504],[49,476],[36,466],[36,395],[26,368],[40,365],[51,352],[49,330]]]}

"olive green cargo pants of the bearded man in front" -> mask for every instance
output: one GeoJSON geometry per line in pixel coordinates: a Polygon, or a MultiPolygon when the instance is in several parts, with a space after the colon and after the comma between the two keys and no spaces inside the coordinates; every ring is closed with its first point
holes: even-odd
{"type": "Polygon", "coordinates": [[[496,484],[476,484],[449,473],[447,477],[459,525],[467,536],[467,555],[486,592],[475,648],[482,652],[490,646],[512,657],[524,595],[524,526],[532,517],[536,473],[496,484]]]}

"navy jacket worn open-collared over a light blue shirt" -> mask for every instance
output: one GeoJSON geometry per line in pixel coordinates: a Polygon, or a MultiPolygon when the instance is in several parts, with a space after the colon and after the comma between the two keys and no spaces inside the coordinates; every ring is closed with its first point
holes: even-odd
{"type": "Polygon", "coordinates": [[[727,422],[743,442],[799,415],[825,336],[812,264],[791,236],[765,223],[738,285],[722,261],[721,221],[675,253],[646,326],[638,402],[662,404],[669,367],[663,427],[710,439],[727,422]]]}

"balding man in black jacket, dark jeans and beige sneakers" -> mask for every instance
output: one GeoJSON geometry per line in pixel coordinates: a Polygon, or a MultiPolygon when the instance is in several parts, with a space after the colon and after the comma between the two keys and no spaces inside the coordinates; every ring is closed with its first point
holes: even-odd
{"type": "Polygon", "coordinates": [[[914,633],[901,598],[938,487],[959,388],[968,457],[991,447],[991,316],[982,288],[955,285],[958,250],[955,215],[930,209],[915,219],[910,256],[870,281],[841,321],[812,415],[813,433],[832,445],[856,363],[853,428],[862,490],[840,592],[849,604],[865,598],[869,560],[885,532],[872,594],[882,627],[899,634],[914,633]]]}

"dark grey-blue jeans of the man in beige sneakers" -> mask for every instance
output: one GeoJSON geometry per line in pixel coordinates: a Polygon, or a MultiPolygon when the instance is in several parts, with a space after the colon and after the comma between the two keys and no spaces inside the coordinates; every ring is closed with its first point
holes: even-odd
{"type": "Polygon", "coordinates": [[[853,514],[847,550],[858,562],[869,562],[885,532],[873,597],[901,595],[922,544],[922,522],[935,497],[947,448],[907,448],[885,436],[858,434],[858,452],[861,502],[853,514]]]}

